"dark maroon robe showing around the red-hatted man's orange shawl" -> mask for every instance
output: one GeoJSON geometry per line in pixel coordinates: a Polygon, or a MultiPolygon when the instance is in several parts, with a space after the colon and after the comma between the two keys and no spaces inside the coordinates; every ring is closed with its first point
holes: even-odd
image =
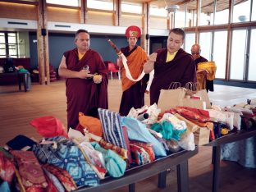
{"type": "MultiPolygon", "coordinates": [[[[127,46],[126,48],[121,48],[121,53],[128,57],[136,50],[136,48],[137,45],[130,51],[129,46],[127,46]]],[[[144,106],[144,93],[148,80],[149,75],[144,75],[142,80],[139,80],[134,85],[131,85],[129,89],[126,89],[122,93],[119,107],[119,113],[121,116],[127,116],[132,107],[140,108],[144,106]]]]}

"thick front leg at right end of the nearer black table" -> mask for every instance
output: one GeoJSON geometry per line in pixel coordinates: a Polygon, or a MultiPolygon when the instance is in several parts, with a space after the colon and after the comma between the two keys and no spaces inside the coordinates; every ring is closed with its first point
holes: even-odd
{"type": "Polygon", "coordinates": [[[177,165],[178,192],[189,191],[189,166],[188,160],[177,165]]]}

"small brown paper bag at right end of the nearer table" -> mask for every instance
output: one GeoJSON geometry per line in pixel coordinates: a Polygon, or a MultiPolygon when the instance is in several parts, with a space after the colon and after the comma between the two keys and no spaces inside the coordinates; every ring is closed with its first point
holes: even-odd
{"type": "Polygon", "coordinates": [[[207,127],[200,127],[194,132],[194,144],[208,144],[210,139],[210,130],[207,127]]]}

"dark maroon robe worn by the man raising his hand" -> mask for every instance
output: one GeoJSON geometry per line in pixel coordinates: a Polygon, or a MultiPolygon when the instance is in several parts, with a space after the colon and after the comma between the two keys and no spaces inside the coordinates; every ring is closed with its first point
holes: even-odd
{"type": "Polygon", "coordinates": [[[154,77],[149,91],[150,105],[158,103],[161,89],[168,89],[172,82],[180,82],[184,87],[187,82],[194,82],[196,75],[193,57],[182,48],[171,62],[166,62],[167,48],[159,49],[157,53],[154,77]]]}

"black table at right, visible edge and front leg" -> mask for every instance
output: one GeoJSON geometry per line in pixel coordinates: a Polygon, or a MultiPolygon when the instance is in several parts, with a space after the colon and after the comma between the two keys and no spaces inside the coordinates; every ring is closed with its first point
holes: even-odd
{"type": "Polygon", "coordinates": [[[234,141],[238,141],[241,139],[247,139],[249,137],[256,135],[256,129],[250,130],[240,130],[237,132],[230,133],[228,135],[224,135],[220,138],[217,138],[210,142],[209,144],[205,144],[204,146],[212,146],[213,147],[213,188],[212,191],[216,192],[218,190],[219,185],[219,170],[220,170],[220,162],[221,162],[221,147],[222,144],[228,144],[234,141]]]}

